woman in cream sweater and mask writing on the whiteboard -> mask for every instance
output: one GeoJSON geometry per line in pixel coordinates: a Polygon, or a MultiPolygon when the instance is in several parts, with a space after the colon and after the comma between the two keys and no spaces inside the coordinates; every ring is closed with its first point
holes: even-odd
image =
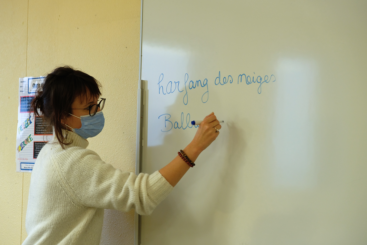
{"type": "Polygon", "coordinates": [[[37,91],[31,111],[44,116],[54,138],[34,164],[24,245],[99,244],[104,209],[152,213],[221,129],[211,113],[168,165],[150,175],[123,172],[86,149],[86,139],[105,122],[99,87],[92,76],[64,66],[48,74],[37,91]]]}

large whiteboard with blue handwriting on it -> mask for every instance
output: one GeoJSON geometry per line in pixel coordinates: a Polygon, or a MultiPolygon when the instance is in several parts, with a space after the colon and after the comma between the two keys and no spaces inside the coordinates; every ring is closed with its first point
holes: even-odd
{"type": "Polygon", "coordinates": [[[225,123],[141,244],[367,244],[367,2],[142,8],[142,171],[225,123]]]}

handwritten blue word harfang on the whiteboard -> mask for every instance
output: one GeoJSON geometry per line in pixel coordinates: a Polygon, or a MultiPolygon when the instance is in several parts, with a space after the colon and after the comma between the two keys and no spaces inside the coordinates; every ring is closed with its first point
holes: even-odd
{"type": "MultiPolygon", "coordinates": [[[[189,80],[189,75],[188,73],[185,74],[185,83],[184,83],[184,86],[185,86],[185,90],[182,89],[182,91],[179,89],[179,85],[180,85],[180,82],[177,81],[177,82],[173,82],[175,85],[174,85],[174,88],[173,88],[173,83],[172,81],[168,82],[167,83],[167,86],[166,86],[166,93],[164,93],[164,87],[163,85],[161,85],[161,82],[163,81],[163,73],[161,73],[161,75],[159,76],[159,79],[158,79],[158,94],[160,94],[160,91],[162,90],[162,94],[163,95],[166,95],[166,94],[171,94],[173,93],[174,91],[176,91],[176,88],[178,90],[179,93],[185,91],[185,95],[183,96],[183,104],[187,105],[187,103],[189,102],[189,97],[188,97],[188,93],[187,93],[187,87],[186,87],[186,83],[188,82],[189,80]],[[168,90],[168,87],[170,88],[168,90]],[[173,90],[172,90],[173,88],[173,90]]],[[[208,79],[204,79],[203,82],[201,82],[201,80],[196,80],[196,82],[194,82],[193,80],[190,80],[188,86],[189,86],[189,90],[191,89],[195,89],[196,87],[199,87],[199,83],[200,83],[200,86],[201,87],[206,87],[206,91],[204,92],[204,94],[201,96],[201,102],[205,103],[208,101],[209,99],[209,89],[208,89],[208,79]]]]}

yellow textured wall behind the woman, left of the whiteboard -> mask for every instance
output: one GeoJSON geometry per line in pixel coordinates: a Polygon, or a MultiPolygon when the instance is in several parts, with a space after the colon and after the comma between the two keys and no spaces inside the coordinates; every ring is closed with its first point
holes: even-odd
{"type": "MultiPolygon", "coordinates": [[[[18,78],[71,65],[94,76],[106,98],[105,128],[88,148],[135,172],[140,0],[0,3],[0,244],[26,238],[29,173],[15,172],[18,78]]],[[[133,244],[134,212],[106,210],[101,244],[133,244]]]]}

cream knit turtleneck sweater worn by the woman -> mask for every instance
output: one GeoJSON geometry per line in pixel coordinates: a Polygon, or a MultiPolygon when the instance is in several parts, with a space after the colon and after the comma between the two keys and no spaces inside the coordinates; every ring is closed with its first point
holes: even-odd
{"type": "Polygon", "coordinates": [[[173,188],[158,171],[123,172],[79,135],[69,131],[67,139],[66,149],[46,144],[34,164],[23,245],[99,244],[104,209],[149,215],[173,188]]]}

